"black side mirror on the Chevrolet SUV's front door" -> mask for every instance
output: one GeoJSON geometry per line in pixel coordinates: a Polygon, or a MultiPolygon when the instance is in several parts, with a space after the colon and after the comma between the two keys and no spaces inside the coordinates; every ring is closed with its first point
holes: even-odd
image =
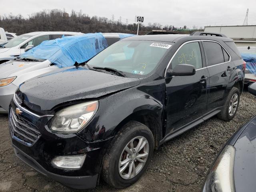
{"type": "Polygon", "coordinates": [[[196,74],[196,69],[190,64],[178,64],[174,70],[168,70],[168,76],[192,76],[194,74],[196,74]]]}

